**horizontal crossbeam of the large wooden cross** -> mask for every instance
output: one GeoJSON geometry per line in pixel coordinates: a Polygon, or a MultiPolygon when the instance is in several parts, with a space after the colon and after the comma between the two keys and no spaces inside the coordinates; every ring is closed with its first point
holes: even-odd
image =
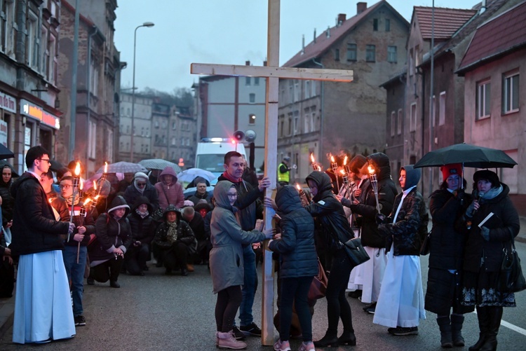
{"type": "Polygon", "coordinates": [[[277,67],[277,65],[278,64],[276,63],[276,66],[273,66],[270,64],[270,62],[269,66],[192,63],[190,66],[190,72],[191,74],[208,74],[219,76],[272,77],[334,82],[353,81],[352,69],[277,67]]]}

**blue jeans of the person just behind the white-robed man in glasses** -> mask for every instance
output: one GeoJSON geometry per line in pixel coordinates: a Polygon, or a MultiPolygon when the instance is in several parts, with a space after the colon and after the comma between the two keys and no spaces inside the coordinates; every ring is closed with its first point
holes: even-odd
{"type": "Polygon", "coordinates": [[[66,246],[62,252],[64,266],[66,267],[67,279],[72,282],[73,315],[83,314],[82,291],[84,289],[84,270],[86,269],[86,254],[88,248],[81,246],[79,252],[79,263],[76,263],[76,246],[66,246]]]}

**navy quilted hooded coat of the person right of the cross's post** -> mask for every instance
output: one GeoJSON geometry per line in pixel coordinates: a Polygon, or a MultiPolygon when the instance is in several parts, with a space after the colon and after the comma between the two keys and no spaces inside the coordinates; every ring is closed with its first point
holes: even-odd
{"type": "Polygon", "coordinates": [[[280,254],[282,278],[313,277],[318,274],[318,256],[314,246],[314,220],[302,207],[294,186],[283,186],[276,194],[281,211],[281,239],[271,240],[269,248],[280,254]]]}

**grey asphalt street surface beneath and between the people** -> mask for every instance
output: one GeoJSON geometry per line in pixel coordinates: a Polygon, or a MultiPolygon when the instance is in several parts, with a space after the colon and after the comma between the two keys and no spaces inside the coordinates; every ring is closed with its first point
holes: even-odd
{"type": "MultiPolygon", "coordinates": [[[[526,257],[526,244],[516,244],[520,257],[526,257]]],[[[422,258],[423,281],[427,281],[427,256],[422,258]]],[[[523,262],[526,262],[523,261],[523,262]]],[[[523,270],[526,263],[523,263],[523,270]]],[[[525,270],[526,271],[526,270],[525,270]]],[[[121,289],[109,284],[86,286],[84,294],[86,326],[77,328],[71,340],[46,345],[15,345],[12,329],[0,340],[0,350],[217,350],[215,348],[215,295],[206,266],[196,266],[188,277],[166,276],[163,268],[150,268],[144,277],[121,275],[121,289]]],[[[261,280],[259,280],[261,282],[261,280]]],[[[425,293],[424,284],[424,293],[425,293]]],[[[261,289],[255,301],[255,321],[261,320],[261,289]]],[[[517,308],[504,308],[499,331],[499,350],[526,348],[526,291],[515,296],[517,308]]],[[[391,336],[386,327],[372,323],[372,315],[362,310],[362,303],[349,298],[358,345],[327,350],[443,350],[436,315],[427,312],[417,336],[391,336]]],[[[327,327],[325,300],[316,304],[313,335],[321,338],[327,327]]],[[[340,324],[340,332],[342,326],[340,324]]],[[[478,322],[474,313],[464,323],[466,347],[478,339],[478,322]]],[[[278,333],[274,335],[278,338],[278,333]]],[[[292,340],[297,350],[299,340],[292,340]]],[[[248,338],[248,350],[271,350],[259,338],[248,338]]],[[[323,349],[319,349],[323,350],[323,349]]],[[[461,350],[455,347],[454,350],[461,350]]]]}

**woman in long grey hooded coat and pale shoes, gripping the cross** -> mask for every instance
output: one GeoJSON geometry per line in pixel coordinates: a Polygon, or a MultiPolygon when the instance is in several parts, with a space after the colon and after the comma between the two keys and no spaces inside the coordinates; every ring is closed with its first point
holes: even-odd
{"type": "Polygon", "coordinates": [[[241,245],[272,238],[274,229],[245,231],[236,221],[237,191],[230,181],[219,181],[214,188],[215,208],[210,221],[210,274],[213,291],[217,294],[215,322],[216,345],[220,348],[241,349],[246,344],[234,338],[233,324],[241,305],[243,285],[243,249],[241,245]]]}

